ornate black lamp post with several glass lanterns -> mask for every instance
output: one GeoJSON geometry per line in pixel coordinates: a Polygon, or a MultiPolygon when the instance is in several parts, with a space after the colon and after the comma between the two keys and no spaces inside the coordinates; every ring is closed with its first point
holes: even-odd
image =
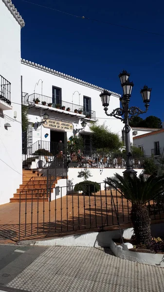
{"type": "Polygon", "coordinates": [[[140,91],[142,98],[143,98],[143,102],[145,103],[146,110],[141,110],[138,107],[130,107],[129,108],[131,91],[132,91],[132,88],[134,86],[133,82],[130,82],[129,76],[130,76],[130,74],[125,70],[119,74],[121,86],[123,88],[123,95],[122,95],[122,97],[120,97],[120,102],[121,102],[122,108],[117,108],[117,109],[113,110],[111,113],[108,113],[107,111],[108,111],[108,107],[109,107],[111,93],[109,91],[104,90],[100,94],[100,97],[101,97],[102,105],[104,107],[106,115],[113,116],[117,119],[120,119],[125,124],[123,130],[125,132],[125,138],[126,138],[127,164],[126,164],[126,170],[123,173],[124,173],[124,175],[128,174],[131,177],[133,177],[134,175],[136,175],[137,172],[133,169],[133,163],[132,163],[132,159],[131,159],[129,120],[135,116],[138,116],[142,113],[145,113],[148,110],[151,89],[145,85],[144,88],[141,89],[141,91],[140,91]]]}

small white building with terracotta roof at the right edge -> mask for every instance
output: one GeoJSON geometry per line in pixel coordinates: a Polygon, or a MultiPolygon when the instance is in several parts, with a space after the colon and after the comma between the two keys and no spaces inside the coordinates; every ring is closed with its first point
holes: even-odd
{"type": "Polygon", "coordinates": [[[164,129],[133,137],[133,145],[142,148],[145,155],[161,156],[164,149],[164,129]]]}

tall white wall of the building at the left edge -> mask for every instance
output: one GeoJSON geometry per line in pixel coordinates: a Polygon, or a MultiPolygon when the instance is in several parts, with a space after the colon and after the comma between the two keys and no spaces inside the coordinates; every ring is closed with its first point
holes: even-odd
{"type": "Polygon", "coordinates": [[[0,113],[0,204],[3,204],[9,202],[22,182],[22,162],[21,123],[11,120],[17,111],[17,120],[21,122],[20,25],[2,1],[0,28],[0,75],[11,83],[13,107],[0,113]],[[8,130],[4,128],[7,122],[11,125],[8,130]]]}

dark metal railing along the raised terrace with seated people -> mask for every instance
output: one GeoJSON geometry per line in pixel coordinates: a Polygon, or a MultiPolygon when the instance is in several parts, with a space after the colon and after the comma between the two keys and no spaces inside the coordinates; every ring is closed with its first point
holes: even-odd
{"type": "MultiPolygon", "coordinates": [[[[70,153],[64,143],[49,141],[37,141],[29,147],[27,154],[22,155],[23,167],[30,167],[35,160],[37,160],[36,168],[48,167],[49,163],[46,161],[53,161],[60,151],[67,157],[68,167],[126,168],[126,153],[96,150],[89,146],[84,146],[80,153],[70,153]]],[[[151,158],[151,156],[146,156],[144,153],[142,156],[132,154],[133,167],[143,168],[145,158],[151,158]]]]}

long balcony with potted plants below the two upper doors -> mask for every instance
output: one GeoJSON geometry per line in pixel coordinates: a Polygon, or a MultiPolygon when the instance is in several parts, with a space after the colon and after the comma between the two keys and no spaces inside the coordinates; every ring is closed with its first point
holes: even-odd
{"type": "Polygon", "coordinates": [[[85,110],[83,106],[79,106],[67,101],[60,101],[60,103],[53,102],[52,97],[33,93],[27,96],[27,93],[22,92],[23,103],[27,105],[37,104],[50,108],[55,108],[59,110],[65,110],[68,112],[74,112],[77,114],[85,115],[86,118],[95,120],[95,111],[94,110],[85,110]]]}

